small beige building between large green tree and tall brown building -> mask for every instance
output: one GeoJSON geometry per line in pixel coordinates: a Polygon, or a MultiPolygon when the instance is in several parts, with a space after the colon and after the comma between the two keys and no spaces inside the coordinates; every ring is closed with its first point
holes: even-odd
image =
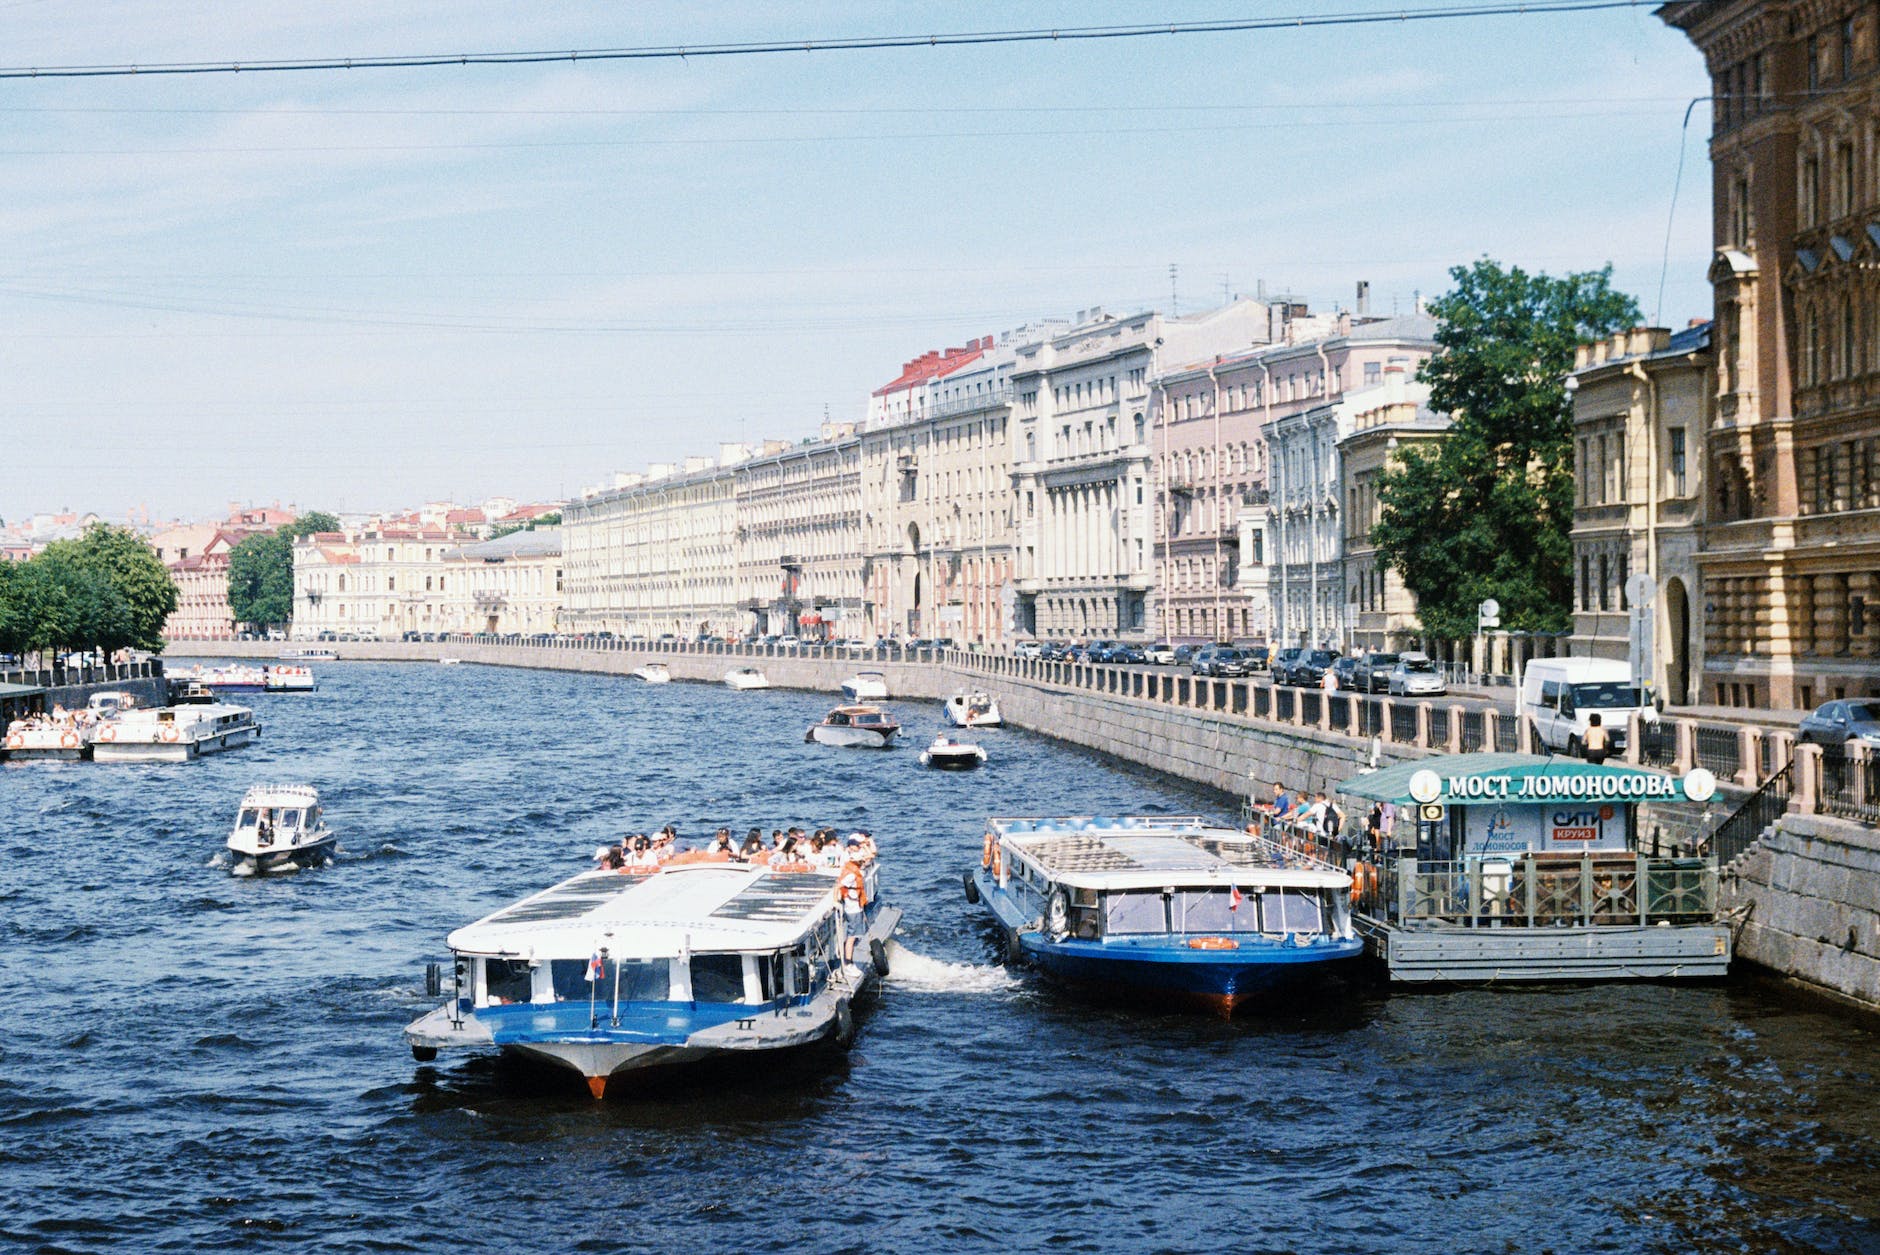
{"type": "Polygon", "coordinates": [[[1630,658],[1649,616],[1651,674],[1671,705],[1703,693],[1703,434],[1716,381],[1711,325],[1636,327],[1583,344],[1574,363],[1575,656],[1630,658]],[[1628,582],[1653,581],[1634,607],[1628,582]]]}

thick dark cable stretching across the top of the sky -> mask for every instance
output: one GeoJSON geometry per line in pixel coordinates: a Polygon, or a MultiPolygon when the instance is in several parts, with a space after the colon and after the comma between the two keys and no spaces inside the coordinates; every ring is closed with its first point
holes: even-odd
{"type": "Polygon", "coordinates": [[[290,60],[158,62],[150,66],[4,66],[0,79],[124,79],[139,75],[293,73],[312,70],[425,70],[440,66],[532,66],[609,60],[692,60],[707,56],[765,56],[776,53],[861,53],[919,47],[976,47],[995,43],[1070,43],[1090,39],[1141,39],[1149,36],[1201,36],[1256,30],[1305,30],[1314,26],[1371,26],[1457,17],[1538,17],[1594,9],[1636,9],[1643,0],[1532,0],[1530,4],[1465,4],[1421,9],[1374,9],[1352,13],[1301,13],[1297,17],[1248,17],[1196,23],[1126,26],[1062,26],[1036,30],[966,30],[951,34],[852,36],[835,39],[756,39],[744,43],[652,45],[619,49],[513,51],[513,53],[421,53],[408,56],[323,56],[290,60]]]}

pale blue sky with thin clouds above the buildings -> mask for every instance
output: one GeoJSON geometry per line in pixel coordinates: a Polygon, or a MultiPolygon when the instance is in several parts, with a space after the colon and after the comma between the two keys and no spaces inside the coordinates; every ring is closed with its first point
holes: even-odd
{"type": "MultiPolygon", "coordinates": [[[[1427,4],[1427,0],[1425,0],[1427,4]]],[[[1335,0],[1314,11],[1361,9],[1335,0]]],[[[1286,15],[1216,4],[0,0],[0,62],[1286,15]]],[[[921,349],[1478,256],[1658,304],[1701,58],[1617,11],[1113,43],[0,83],[0,517],[570,494],[921,349]]],[[[1709,118],[1662,321],[1707,316],[1709,118]]]]}

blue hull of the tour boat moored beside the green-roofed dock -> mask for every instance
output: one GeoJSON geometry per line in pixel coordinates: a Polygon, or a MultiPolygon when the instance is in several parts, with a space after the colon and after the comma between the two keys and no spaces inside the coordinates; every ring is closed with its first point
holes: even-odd
{"type": "Polygon", "coordinates": [[[1154,941],[1051,939],[1017,911],[987,870],[974,874],[981,902],[1006,930],[1008,958],[1083,990],[1162,1005],[1231,1015],[1248,1003],[1271,1003],[1324,977],[1348,969],[1365,953],[1363,937],[1288,941],[1265,934],[1154,941]],[[1199,941],[1201,947],[1190,945],[1199,941]],[[1226,945],[1231,943],[1231,949],[1226,945]],[[1216,949],[1218,947],[1218,949],[1216,949]]]}

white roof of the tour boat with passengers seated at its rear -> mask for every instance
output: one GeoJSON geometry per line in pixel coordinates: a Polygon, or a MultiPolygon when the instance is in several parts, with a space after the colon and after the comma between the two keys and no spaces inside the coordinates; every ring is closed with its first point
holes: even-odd
{"type": "Polygon", "coordinates": [[[588,958],[605,945],[632,958],[686,951],[778,951],[835,909],[835,872],[773,872],[724,862],[652,875],[583,872],[449,936],[472,954],[588,958]]]}

